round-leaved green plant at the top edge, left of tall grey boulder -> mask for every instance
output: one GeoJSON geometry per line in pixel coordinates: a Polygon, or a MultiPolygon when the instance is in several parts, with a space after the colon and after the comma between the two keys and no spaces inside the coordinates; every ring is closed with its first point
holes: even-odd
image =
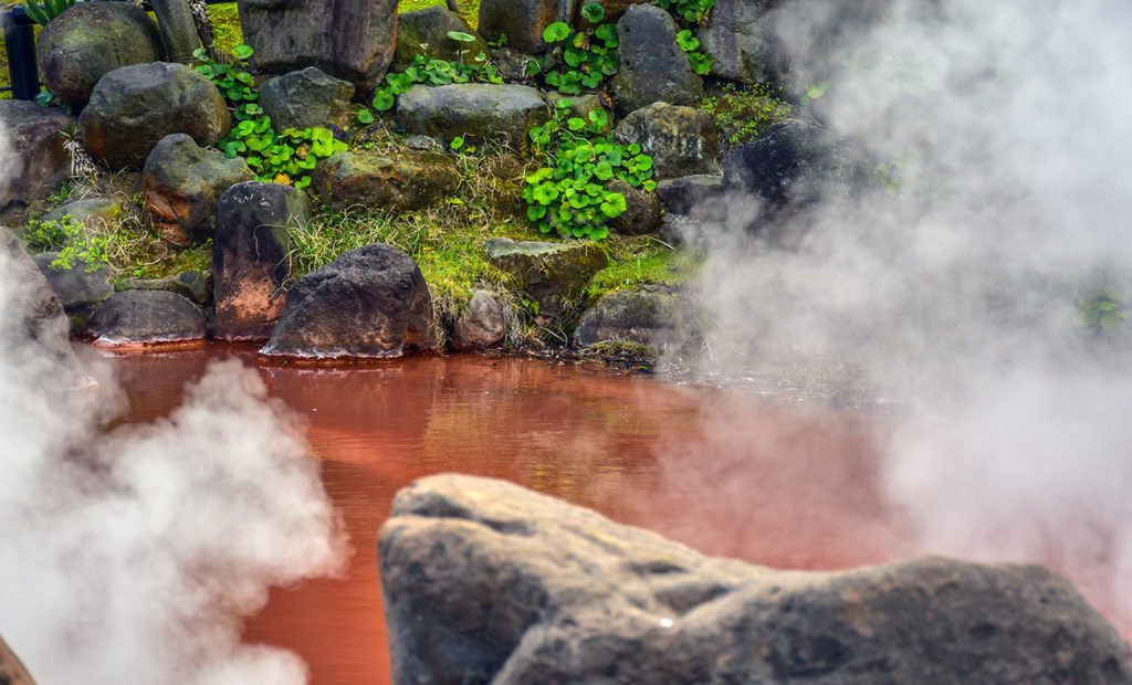
{"type": "Polygon", "coordinates": [[[548,55],[528,62],[526,68],[529,76],[543,74],[548,86],[569,95],[599,87],[620,68],[617,26],[598,24],[606,10],[590,2],[582,8],[582,16],[593,26],[584,31],[572,29],[565,22],[547,26],[542,40],[554,48],[548,55]]]}

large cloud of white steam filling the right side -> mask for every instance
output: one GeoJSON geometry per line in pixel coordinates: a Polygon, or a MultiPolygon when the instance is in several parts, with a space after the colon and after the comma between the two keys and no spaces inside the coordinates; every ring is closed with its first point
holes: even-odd
{"type": "Polygon", "coordinates": [[[829,5],[779,3],[787,86],[826,82],[813,113],[895,182],[818,207],[790,250],[729,198],[700,298],[714,370],[899,399],[885,485],[924,549],[1064,563],[1130,611],[1132,322],[1075,322],[1090,292],[1132,308],[1132,6],[893,0],[813,41],[829,5]]]}

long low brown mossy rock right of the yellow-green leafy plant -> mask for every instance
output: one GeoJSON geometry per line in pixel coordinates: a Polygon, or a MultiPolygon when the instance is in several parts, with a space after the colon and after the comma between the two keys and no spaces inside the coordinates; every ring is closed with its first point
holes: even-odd
{"type": "Polygon", "coordinates": [[[311,174],[311,187],[333,209],[352,205],[421,209],[441,202],[458,185],[456,163],[436,152],[337,152],[311,174]]]}

